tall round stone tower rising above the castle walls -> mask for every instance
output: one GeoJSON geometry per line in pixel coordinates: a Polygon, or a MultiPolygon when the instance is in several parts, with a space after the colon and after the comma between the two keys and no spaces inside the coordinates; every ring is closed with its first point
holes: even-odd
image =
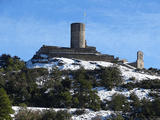
{"type": "Polygon", "coordinates": [[[86,48],[85,24],[71,24],[71,48],[86,48]]]}

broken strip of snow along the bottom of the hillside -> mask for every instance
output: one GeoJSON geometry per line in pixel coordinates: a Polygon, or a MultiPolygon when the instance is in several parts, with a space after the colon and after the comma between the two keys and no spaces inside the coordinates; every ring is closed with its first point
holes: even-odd
{"type": "MultiPolygon", "coordinates": [[[[12,108],[15,111],[15,114],[17,114],[21,107],[13,106],[12,108]]],[[[49,109],[49,108],[27,107],[27,109],[33,110],[33,111],[43,111],[43,110],[46,110],[46,109],[49,109]]],[[[71,109],[53,108],[53,110],[55,110],[55,111],[67,110],[68,112],[73,113],[77,109],[76,108],[71,108],[71,109]]],[[[79,116],[73,115],[72,119],[73,120],[91,120],[92,118],[94,118],[96,116],[101,116],[101,120],[105,120],[106,118],[110,118],[112,114],[115,114],[113,111],[109,111],[109,110],[107,110],[107,111],[100,110],[100,111],[94,112],[92,110],[85,109],[85,111],[86,112],[82,115],[79,115],[79,116]]],[[[12,115],[12,117],[14,117],[14,115],[12,115]]]]}

